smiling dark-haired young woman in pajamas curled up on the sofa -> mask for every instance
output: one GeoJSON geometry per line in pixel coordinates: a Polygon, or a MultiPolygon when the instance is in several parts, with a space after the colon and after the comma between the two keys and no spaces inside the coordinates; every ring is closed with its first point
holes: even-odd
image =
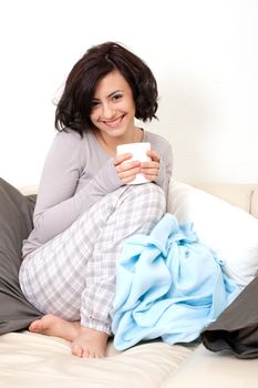
{"type": "Polygon", "coordinates": [[[123,241],[148,234],[165,212],[171,145],[135,125],[156,110],[152,71],[114,42],[75,63],[56,106],[20,284],[43,313],[29,329],[70,340],[79,357],[105,355],[123,241]],[[149,162],[116,155],[118,144],[135,142],[151,143],[149,162]],[[130,185],[140,172],[149,183],[130,185]]]}

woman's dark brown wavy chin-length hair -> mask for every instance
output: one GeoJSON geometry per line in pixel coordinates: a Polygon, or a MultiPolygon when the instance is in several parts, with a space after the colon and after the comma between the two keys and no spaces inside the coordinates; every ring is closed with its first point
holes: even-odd
{"type": "Polygon", "coordinates": [[[151,69],[137,55],[118,43],[94,45],[71,70],[55,111],[55,129],[72,129],[81,135],[92,130],[90,119],[97,82],[117,70],[130,84],[135,103],[135,118],[152,121],[157,111],[157,83],[151,69]]]}

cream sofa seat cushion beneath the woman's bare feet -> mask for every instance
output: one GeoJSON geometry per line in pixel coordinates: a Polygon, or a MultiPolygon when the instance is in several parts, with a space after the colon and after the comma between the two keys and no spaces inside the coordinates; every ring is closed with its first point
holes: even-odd
{"type": "Polygon", "coordinates": [[[0,337],[0,379],[4,388],[156,388],[193,355],[195,346],[162,341],[120,353],[107,346],[104,359],[71,355],[70,344],[30,331],[0,337]]]}

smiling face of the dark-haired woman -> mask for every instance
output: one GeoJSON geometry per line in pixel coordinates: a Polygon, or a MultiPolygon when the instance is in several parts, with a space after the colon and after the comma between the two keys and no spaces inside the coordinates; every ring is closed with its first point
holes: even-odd
{"type": "Polygon", "coordinates": [[[106,137],[123,137],[134,131],[135,103],[132,89],[117,71],[99,81],[90,119],[106,137]]]}

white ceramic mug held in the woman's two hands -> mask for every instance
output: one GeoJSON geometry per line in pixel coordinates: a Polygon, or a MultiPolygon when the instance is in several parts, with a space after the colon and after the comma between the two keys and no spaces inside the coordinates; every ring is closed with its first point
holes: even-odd
{"type": "MultiPolygon", "coordinates": [[[[120,144],[116,146],[116,154],[125,154],[130,152],[133,156],[128,159],[127,161],[123,163],[128,163],[133,161],[140,161],[140,162],[151,162],[151,157],[147,155],[147,151],[151,150],[151,143],[142,142],[142,143],[127,143],[127,144],[120,144]]],[[[147,183],[145,176],[142,173],[138,173],[135,178],[127,183],[127,184],[140,184],[140,183],[147,183]]]]}

